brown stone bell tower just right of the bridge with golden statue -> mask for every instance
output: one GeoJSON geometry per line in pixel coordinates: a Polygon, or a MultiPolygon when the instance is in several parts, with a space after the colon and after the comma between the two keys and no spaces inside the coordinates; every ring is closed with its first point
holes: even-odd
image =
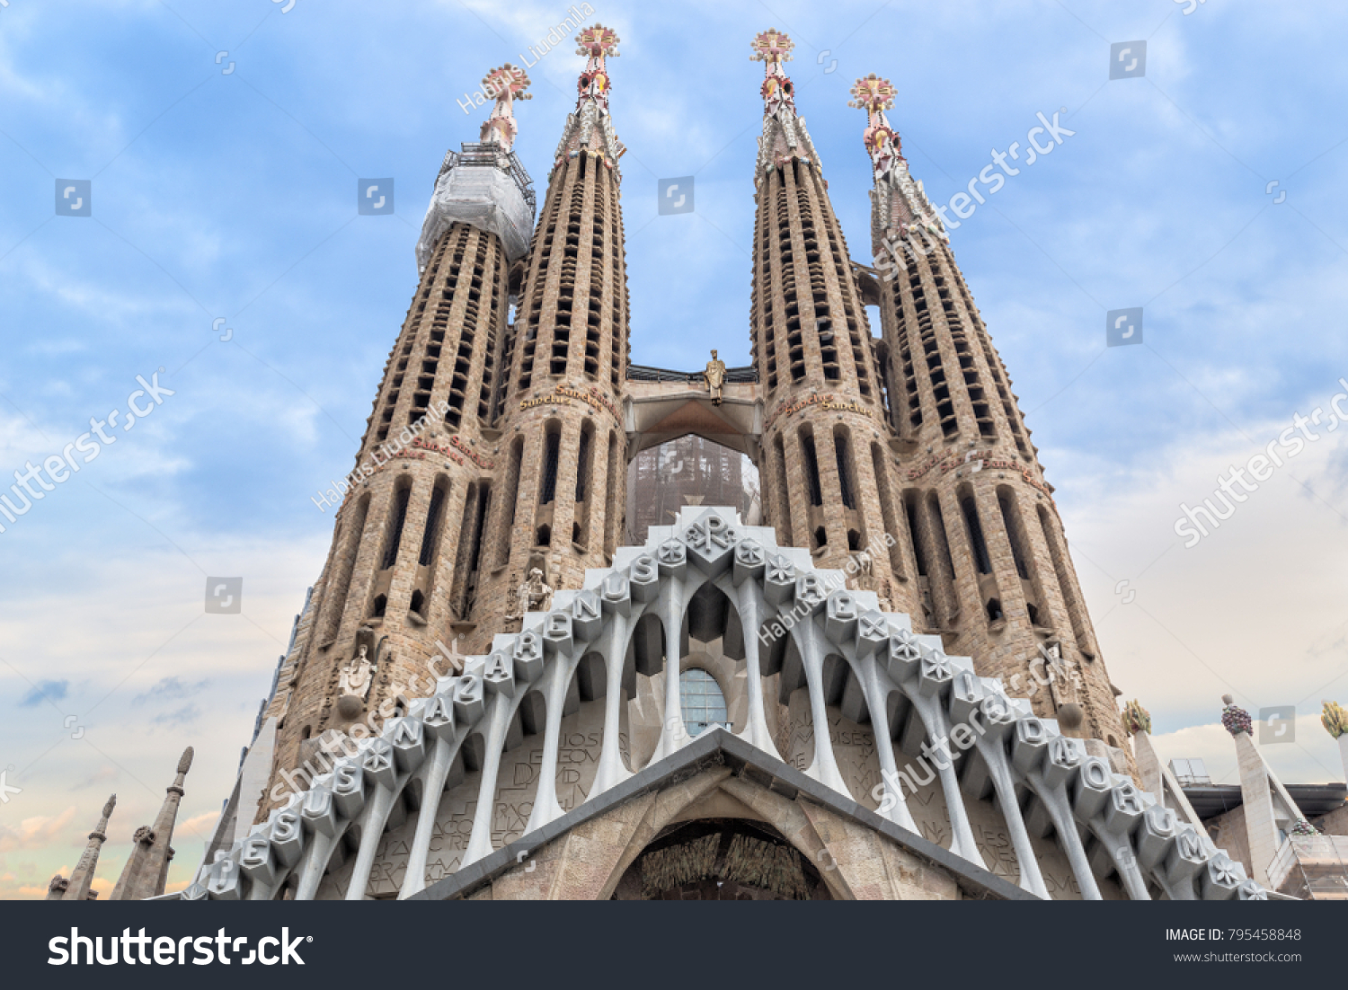
{"type": "Polygon", "coordinates": [[[865,307],[847,240],[794,85],[791,39],[754,39],[763,62],[763,135],[754,168],[749,333],[764,403],[762,485],[782,546],[807,547],[818,567],[861,555],[861,586],[910,612],[913,562],[894,512],[898,478],[865,307]]]}

